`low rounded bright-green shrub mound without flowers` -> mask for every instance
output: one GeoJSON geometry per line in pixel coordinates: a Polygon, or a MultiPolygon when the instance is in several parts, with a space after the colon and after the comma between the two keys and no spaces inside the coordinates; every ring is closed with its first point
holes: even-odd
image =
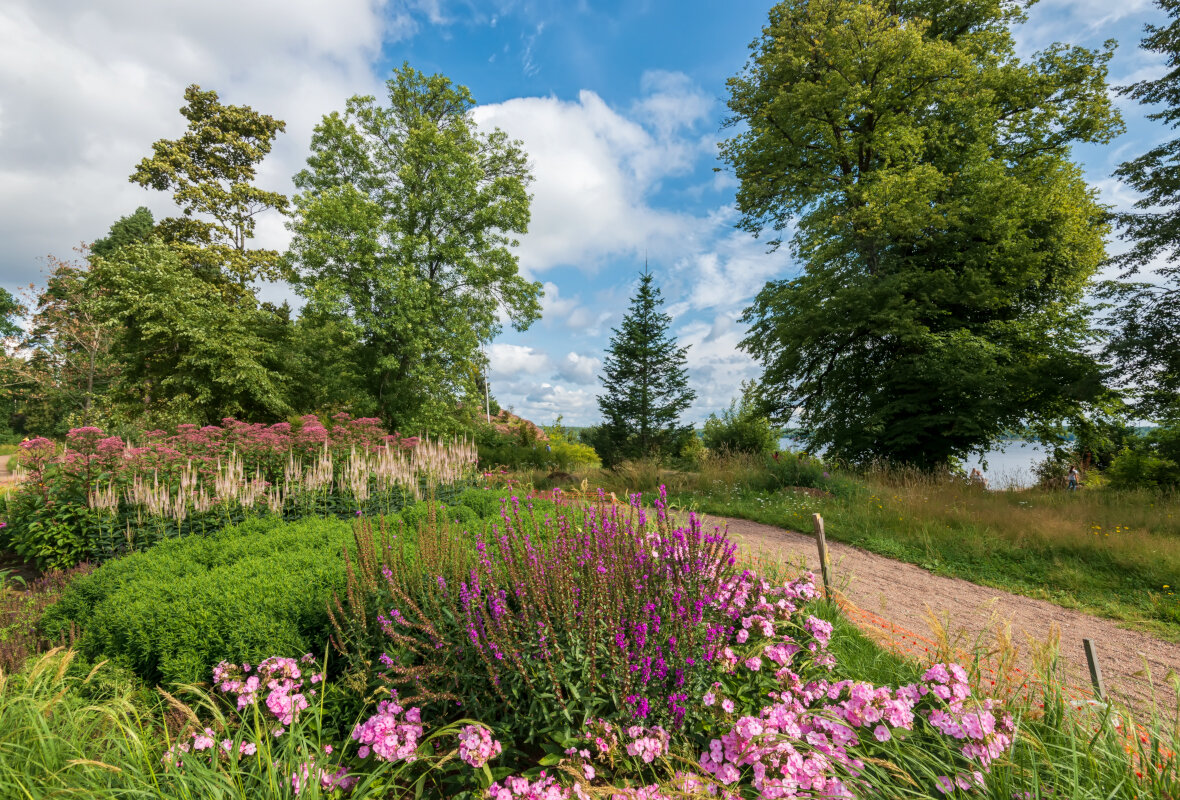
{"type": "Polygon", "coordinates": [[[42,631],[55,640],[77,625],[86,657],[149,682],[205,680],[223,658],[322,653],[352,542],[346,522],[274,519],[165,542],[76,581],[42,631]]]}

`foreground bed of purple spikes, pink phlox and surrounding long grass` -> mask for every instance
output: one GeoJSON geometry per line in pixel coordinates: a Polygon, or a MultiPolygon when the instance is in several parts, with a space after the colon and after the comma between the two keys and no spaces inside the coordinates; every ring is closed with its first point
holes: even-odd
{"type": "MultiPolygon", "coordinates": [[[[1008,709],[976,697],[956,664],[891,662],[863,680],[841,640],[854,634],[813,576],[742,569],[723,531],[674,524],[661,501],[649,518],[638,498],[506,500],[483,536],[439,519],[354,526],[353,579],[333,605],[345,657],[330,663],[222,662],[211,693],[173,689],[196,702],[163,695],[146,727],[124,700],[76,697],[94,673],[66,686],[68,655],[0,675],[0,785],[358,800],[1175,796],[1174,736],[1132,753],[1117,717],[1051,694],[1008,709]],[[352,624],[366,614],[373,630],[352,624]]],[[[182,544],[197,542],[103,569],[182,544]]]]}

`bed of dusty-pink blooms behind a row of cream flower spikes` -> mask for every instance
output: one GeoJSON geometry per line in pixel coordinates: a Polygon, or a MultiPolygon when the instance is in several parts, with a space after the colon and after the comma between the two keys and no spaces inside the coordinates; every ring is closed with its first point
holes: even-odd
{"type": "Polygon", "coordinates": [[[315,415],[300,425],[181,425],[132,445],[94,427],[20,445],[7,498],[11,546],[42,568],[101,562],[163,539],[208,533],[253,514],[284,519],[392,513],[473,474],[470,442],[388,434],[375,419],[315,415]]]}

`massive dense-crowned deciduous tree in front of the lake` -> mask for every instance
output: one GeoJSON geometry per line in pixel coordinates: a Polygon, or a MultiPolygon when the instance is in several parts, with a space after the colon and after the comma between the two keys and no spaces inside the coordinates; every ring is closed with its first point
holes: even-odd
{"type": "Polygon", "coordinates": [[[729,81],[741,225],[801,268],[743,347],[814,447],[943,465],[1100,389],[1107,225],[1070,146],[1120,130],[1113,45],[1021,60],[1024,5],[785,0],[729,81]]]}

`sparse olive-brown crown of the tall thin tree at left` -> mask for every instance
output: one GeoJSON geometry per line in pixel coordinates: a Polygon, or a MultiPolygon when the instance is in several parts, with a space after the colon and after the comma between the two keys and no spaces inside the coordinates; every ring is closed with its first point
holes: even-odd
{"type": "MultiPolygon", "coordinates": [[[[286,196],[253,185],[258,163],[287,124],[250,106],[224,105],[217,92],[195,84],[184,90],[184,136],[155,143],[131,182],[172,191],[184,216],[162,219],[157,232],[190,269],[253,296],[251,281],[282,277],[278,253],[249,249],[247,242],[254,237],[258,214],[287,210],[286,196]]],[[[113,229],[111,234],[113,240],[113,229]]]]}

